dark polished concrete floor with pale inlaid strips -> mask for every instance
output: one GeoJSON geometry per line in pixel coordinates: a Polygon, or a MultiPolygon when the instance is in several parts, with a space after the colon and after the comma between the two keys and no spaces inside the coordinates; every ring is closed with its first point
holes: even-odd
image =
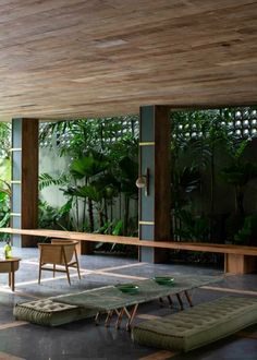
{"type": "MultiPolygon", "coordinates": [[[[257,360],[257,324],[204,348],[176,353],[133,344],[124,326],[118,331],[114,326],[106,328],[102,325],[96,326],[93,320],[83,320],[50,328],[15,321],[12,314],[17,302],[136,281],[161,274],[172,274],[174,277],[176,274],[223,275],[222,269],[200,265],[154,265],[109,255],[84,255],[79,257],[81,281],[75,272],[71,286],[65,274],[59,273],[52,278],[50,272],[44,272],[41,285],[38,285],[38,250],[13,249],[13,256],[22,257],[20,269],[15,273],[14,293],[8,286],[8,275],[0,274],[0,360],[257,360]]],[[[193,300],[198,303],[225,295],[242,293],[257,297],[257,274],[225,276],[220,283],[194,290],[193,300]]],[[[178,311],[176,308],[176,303],[175,309],[171,310],[151,301],[139,307],[136,322],[178,311]]]]}

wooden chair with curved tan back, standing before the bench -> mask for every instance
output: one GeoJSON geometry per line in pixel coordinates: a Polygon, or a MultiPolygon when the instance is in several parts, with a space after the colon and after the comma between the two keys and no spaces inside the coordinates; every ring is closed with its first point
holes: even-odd
{"type": "Polygon", "coordinates": [[[71,285],[69,267],[75,267],[78,278],[81,279],[76,252],[77,244],[78,241],[59,239],[52,239],[51,243],[38,243],[40,251],[38,284],[40,284],[41,271],[50,271],[53,272],[53,277],[56,276],[56,272],[66,273],[68,281],[71,285]],[[49,267],[49,264],[51,264],[52,267],[49,267]],[[57,268],[57,265],[64,266],[64,269],[57,268]]]}

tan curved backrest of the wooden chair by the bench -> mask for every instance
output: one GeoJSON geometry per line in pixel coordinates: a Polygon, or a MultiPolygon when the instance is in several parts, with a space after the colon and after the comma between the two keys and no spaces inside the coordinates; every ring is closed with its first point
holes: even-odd
{"type": "Polygon", "coordinates": [[[41,263],[64,265],[64,255],[66,263],[70,263],[77,243],[77,241],[73,240],[59,239],[52,239],[51,243],[39,243],[41,263]]]}

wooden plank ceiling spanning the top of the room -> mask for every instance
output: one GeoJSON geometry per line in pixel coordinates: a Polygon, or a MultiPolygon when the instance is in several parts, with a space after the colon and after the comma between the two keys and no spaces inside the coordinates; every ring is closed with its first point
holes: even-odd
{"type": "Polygon", "coordinates": [[[257,98],[257,1],[0,0],[0,120],[257,98]]]}

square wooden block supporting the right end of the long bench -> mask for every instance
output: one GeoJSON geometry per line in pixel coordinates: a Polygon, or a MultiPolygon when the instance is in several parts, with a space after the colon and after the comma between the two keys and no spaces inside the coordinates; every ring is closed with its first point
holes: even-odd
{"type": "Polygon", "coordinates": [[[249,274],[257,271],[256,256],[224,254],[224,272],[230,274],[249,274]]]}

